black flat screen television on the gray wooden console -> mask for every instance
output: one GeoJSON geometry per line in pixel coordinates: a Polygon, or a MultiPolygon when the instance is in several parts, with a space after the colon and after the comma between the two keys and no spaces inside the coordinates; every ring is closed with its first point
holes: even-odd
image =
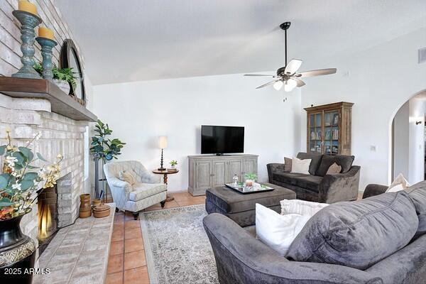
{"type": "Polygon", "coordinates": [[[201,153],[244,153],[244,127],[202,125],[201,153]]]}

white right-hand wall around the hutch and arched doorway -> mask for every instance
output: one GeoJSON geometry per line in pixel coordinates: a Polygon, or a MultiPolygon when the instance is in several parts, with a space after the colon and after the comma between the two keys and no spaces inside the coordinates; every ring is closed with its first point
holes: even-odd
{"type": "MultiPolygon", "coordinates": [[[[356,40],[356,39],[354,39],[356,40]]],[[[426,89],[426,64],[417,50],[426,47],[426,28],[345,58],[310,62],[304,70],[337,67],[337,74],[307,78],[302,107],[354,102],[352,154],[361,165],[360,190],[368,183],[388,184],[391,176],[391,123],[396,111],[426,89]],[[371,151],[376,146],[376,151],[371,151]]],[[[302,115],[302,148],[306,149],[306,117],[302,115]]]]}

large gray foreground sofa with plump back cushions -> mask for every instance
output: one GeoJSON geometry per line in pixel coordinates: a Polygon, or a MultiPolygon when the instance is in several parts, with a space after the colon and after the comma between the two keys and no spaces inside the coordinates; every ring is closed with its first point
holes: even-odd
{"type": "Polygon", "coordinates": [[[426,182],[410,187],[407,192],[376,195],[383,189],[367,187],[364,195],[369,197],[365,200],[339,202],[315,214],[290,246],[289,255],[295,258],[303,257],[297,253],[313,249],[310,246],[318,246],[305,255],[305,261],[280,256],[231,219],[209,214],[203,223],[216,258],[219,283],[425,283],[426,182]],[[352,222],[351,226],[344,226],[347,234],[334,240],[317,234],[317,230],[329,229],[330,224],[336,229],[336,217],[342,212],[346,216],[340,216],[339,222],[352,222]],[[356,236],[358,239],[354,239],[356,236]],[[349,241],[342,241],[346,238],[349,241]],[[337,243],[329,246],[329,251],[322,246],[333,241],[337,243]],[[359,253],[363,249],[361,256],[351,255],[351,250],[359,253]],[[344,252],[339,256],[337,251],[344,252]],[[331,253],[333,257],[321,258],[321,253],[331,253]],[[354,266],[338,264],[345,261],[353,261],[354,266]],[[360,261],[366,263],[359,264],[360,261]]]}

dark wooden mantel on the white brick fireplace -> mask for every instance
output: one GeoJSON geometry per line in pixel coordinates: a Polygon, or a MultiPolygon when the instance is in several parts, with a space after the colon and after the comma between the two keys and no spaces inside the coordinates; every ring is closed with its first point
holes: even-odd
{"type": "Polygon", "coordinates": [[[48,99],[56,114],[78,121],[97,121],[97,116],[49,80],[0,77],[0,93],[15,98],[48,99]]]}

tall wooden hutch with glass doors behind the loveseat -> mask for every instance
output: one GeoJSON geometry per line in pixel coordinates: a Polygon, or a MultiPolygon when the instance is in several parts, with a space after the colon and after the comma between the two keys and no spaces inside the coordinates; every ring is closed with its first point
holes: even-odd
{"type": "Polygon", "coordinates": [[[351,102],[307,107],[307,152],[351,155],[351,102]]]}

